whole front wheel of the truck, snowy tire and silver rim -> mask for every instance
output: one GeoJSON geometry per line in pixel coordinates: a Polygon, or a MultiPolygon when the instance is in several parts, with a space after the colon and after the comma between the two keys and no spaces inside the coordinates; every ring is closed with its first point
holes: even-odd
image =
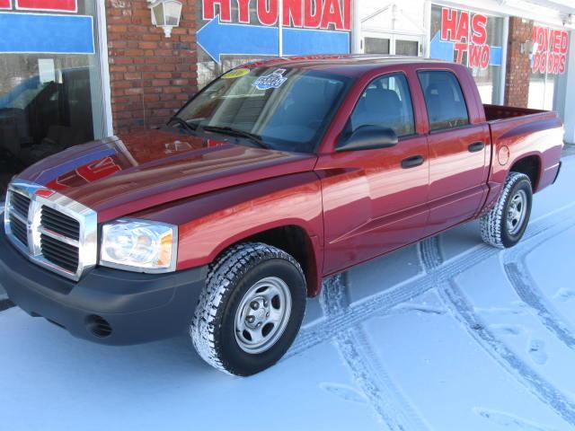
{"type": "Polygon", "coordinates": [[[305,277],[296,259],[270,245],[236,245],[209,268],[190,325],[209,365],[251,375],[274,365],[296,338],[305,312],[305,277]]]}

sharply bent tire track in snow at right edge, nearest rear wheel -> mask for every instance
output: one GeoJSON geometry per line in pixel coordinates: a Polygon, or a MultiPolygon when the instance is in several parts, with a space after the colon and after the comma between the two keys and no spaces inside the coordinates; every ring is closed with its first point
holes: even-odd
{"type": "MultiPolygon", "coordinates": [[[[572,222],[567,229],[572,226],[572,222]]],[[[509,279],[509,283],[515,289],[521,301],[535,310],[536,315],[542,321],[544,326],[550,330],[558,339],[567,347],[575,350],[575,333],[571,325],[568,324],[558,312],[553,304],[550,303],[543,292],[537,287],[535,280],[526,265],[526,258],[529,252],[543,242],[549,241],[553,237],[563,233],[566,230],[565,224],[562,223],[549,230],[548,233],[536,238],[530,248],[521,248],[518,250],[510,249],[503,254],[503,268],[509,279]]]]}

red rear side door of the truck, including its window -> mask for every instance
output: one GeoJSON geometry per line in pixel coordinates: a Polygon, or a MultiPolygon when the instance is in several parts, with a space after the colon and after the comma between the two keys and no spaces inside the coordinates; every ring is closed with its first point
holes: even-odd
{"type": "Polygon", "coordinates": [[[438,233],[473,217],[485,191],[489,128],[472,124],[469,103],[456,74],[420,70],[429,120],[429,222],[438,233]]]}

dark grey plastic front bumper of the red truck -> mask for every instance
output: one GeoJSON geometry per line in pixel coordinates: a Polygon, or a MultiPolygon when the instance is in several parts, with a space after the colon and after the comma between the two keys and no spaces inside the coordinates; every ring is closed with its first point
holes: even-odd
{"type": "Polygon", "coordinates": [[[183,333],[207,272],[207,267],[161,275],[94,268],[75,282],[31,263],[0,229],[0,280],[13,303],[97,343],[137,344],[183,333]],[[93,330],[98,319],[109,323],[109,335],[93,330]]]}

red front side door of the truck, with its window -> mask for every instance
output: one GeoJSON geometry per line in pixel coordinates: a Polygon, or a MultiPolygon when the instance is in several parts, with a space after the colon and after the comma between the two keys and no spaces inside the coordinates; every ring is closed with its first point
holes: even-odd
{"type": "Polygon", "coordinates": [[[347,135],[366,125],[393,129],[398,144],[323,154],[316,167],[323,188],[324,275],[419,240],[429,216],[428,142],[417,133],[403,73],[367,85],[347,135]]]}

